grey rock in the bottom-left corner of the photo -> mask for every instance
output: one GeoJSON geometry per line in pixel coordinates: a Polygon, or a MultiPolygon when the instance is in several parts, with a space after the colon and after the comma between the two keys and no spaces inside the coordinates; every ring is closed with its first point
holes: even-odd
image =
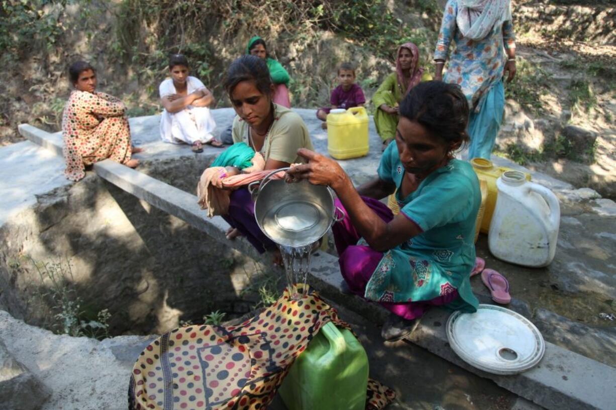
{"type": "Polygon", "coordinates": [[[0,340],[0,403],[2,409],[36,410],[51,390],[9,353],[0,340]]]}

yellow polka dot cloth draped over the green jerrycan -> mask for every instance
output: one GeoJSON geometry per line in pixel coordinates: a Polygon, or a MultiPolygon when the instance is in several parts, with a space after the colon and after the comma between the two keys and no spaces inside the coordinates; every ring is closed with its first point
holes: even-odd
{"type": "MultiPolygon", "coordinates": [[[[239,326],[174,329],[135,363],[129,409],[265,409],[291,364],[329,321],[349,328],[315,292],[295,301],[285,291],[239,326]]],[[[395,396],[375,380],[368,386],[367,408],[383,408],[395,396]]]]}

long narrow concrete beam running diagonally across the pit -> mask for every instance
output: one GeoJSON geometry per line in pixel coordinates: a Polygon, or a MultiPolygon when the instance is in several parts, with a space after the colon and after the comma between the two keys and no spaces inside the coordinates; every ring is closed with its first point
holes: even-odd
{"type": "MultiPolygon", "coordinates": [[[[58,153],[57,141],[49,134],[31,126],[20,126],[22,135],[43,147],[58,153]],[[47,134],[47,135],[46,135],[47,134]]],[[[168,212],[198,230],[251,257],[259,257],[245,239],[229,241],[225,231],[229,227],[221,217],[208,219],[197,204],[197,197],[179,190],[139,171],[114,161],[105,160],[94,165],[97,175],[143,199],[152,206],[168,212]]],[[[310,262],[309,283],[323,296],[359,313],[376,324],[382,324],[389,314],[376,303],[357,295],[342,294],[342,276],[338,259],[325,252],[317,252],[310,262]]],[[[493,380],[496,384],[549,410],[609,410],[616,403],[616,369],[597,361],[569,352],[546,342],[543,360],[533,369],[516,376],[497,376],[479,371],[458,358],[449,347],[445,323],[449,312],[434,308],[424,316],[416,332],[408,339],[445,360],[451,361],[477,376],[493,380]],[[612,404],[610,404],[612,403],[612,404]]]]}

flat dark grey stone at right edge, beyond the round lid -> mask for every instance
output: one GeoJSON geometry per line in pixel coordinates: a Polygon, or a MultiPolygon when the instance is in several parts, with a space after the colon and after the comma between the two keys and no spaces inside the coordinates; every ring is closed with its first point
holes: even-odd
{"type": "Polygon", "coordinates": [[[616,366],[616,329],[587,326],[538,308],[533,320],[549,342],[593,360],[616,366]]]}

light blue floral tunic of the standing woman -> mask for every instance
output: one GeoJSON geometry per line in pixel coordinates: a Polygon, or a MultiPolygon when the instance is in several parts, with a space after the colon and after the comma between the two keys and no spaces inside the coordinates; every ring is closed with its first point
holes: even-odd
{"type": "MultiPolygon", "coordinates": [[[[505,49],[516,48],[511,11],[503,12],[502,17],[496,19],[485,38],[471,39],[462,34],[456,23],[459,3],[458,0],[448,0],[445,6],[434,59],[447,60],[449,57],[444,81],[459,84],[469,107],[479,111],[482,98],[503,77],[505,49]],[[452,39],[455,49],[448,56],[452,39]]],[[[508,4],[507,9],[510,7],[508,4]]]]}

